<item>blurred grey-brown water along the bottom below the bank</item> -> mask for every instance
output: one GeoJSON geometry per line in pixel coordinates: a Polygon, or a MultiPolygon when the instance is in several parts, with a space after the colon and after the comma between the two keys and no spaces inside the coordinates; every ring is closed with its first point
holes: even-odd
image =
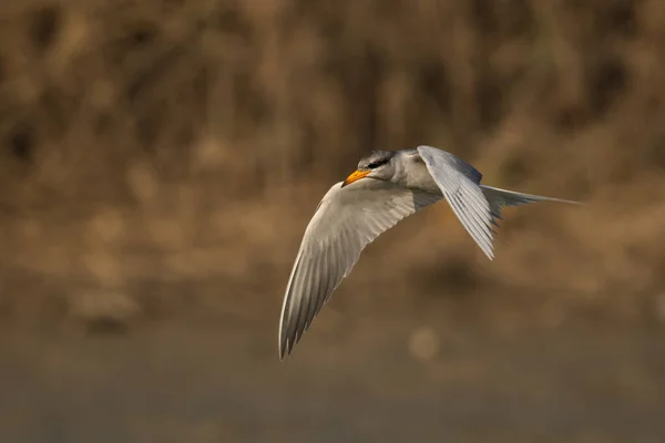
{"type": "Polygon", "coordinates": [[[505,340],[460,329],[423,362],[408,328],[310,332],[285,362],[273,334],[234,326],[9,331],[0,441],[665,441],[661,330],[564,324],[505,340]]]}

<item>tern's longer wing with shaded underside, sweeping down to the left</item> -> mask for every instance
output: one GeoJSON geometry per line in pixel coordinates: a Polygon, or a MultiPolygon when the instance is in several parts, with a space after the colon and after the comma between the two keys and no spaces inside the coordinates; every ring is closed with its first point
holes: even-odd
{"type": "Polygon", "coordinates": [[[362,249],[399,220],[441,197],[372,178],[332,185],[309,222],[279,321],[279,357],[290,353],[362,249]]]}

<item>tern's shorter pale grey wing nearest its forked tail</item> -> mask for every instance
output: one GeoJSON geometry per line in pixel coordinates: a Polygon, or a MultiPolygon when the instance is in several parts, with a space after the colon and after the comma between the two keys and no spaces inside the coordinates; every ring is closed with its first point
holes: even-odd
{"type": "Polygon", "coordinates": [[[417,150],[462,226],[488,258],[493,259],[492,213],[480,187],[482,174],[446,151],[431,146],[417,150]]]}

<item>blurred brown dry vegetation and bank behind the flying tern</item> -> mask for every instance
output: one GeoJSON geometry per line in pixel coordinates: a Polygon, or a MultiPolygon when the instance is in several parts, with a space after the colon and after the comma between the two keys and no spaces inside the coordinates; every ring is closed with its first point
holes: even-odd
{"type": "Polygon", "coordinates": [[[589,205],[510,212],[492,264],[432,208],[372,245],[357,286],[652,316],[664,55],[658,0],[2,2],[0,311],[269,298],[275,319],[327,187],[371,148],[430,144],[489,184],[589,205]]]}

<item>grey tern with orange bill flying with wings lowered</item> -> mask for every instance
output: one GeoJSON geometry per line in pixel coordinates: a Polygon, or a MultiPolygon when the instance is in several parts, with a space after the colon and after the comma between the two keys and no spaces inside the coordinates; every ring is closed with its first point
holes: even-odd
{"type": "Polygon", "coordinates": [[[492,260],[493,227],[503,207],[577,202],[522,194],[481,184],[482,174],[432,146],[372,151],[318,204],[286,286],[279,320],[279,358],[289,354],[362,249],[426,206],[446,199],[462,226],[492,260]]]}

